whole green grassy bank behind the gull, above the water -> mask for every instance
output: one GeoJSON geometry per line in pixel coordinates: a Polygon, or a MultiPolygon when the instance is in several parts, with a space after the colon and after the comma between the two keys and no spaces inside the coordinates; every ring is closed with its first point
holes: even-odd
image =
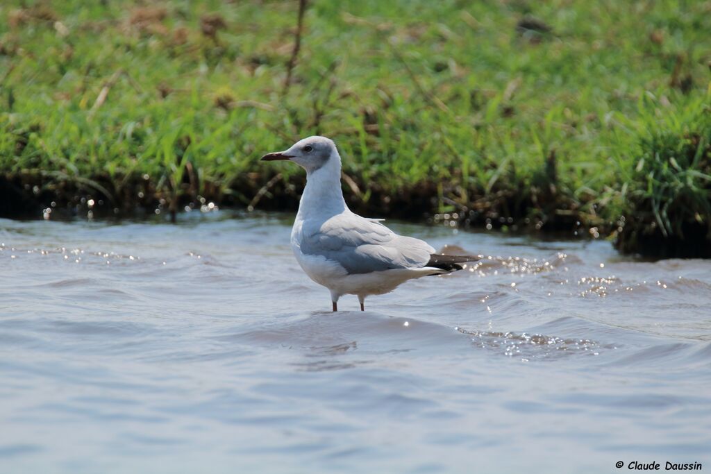
{"type": "Polygon", "coordinates": [[[298,1],[148,5],[0,6],[7,193],[293,207],[301,172],[258,158],[325,134],[356,210],[632,252],[708,229],[708,2],[314,0],[291,72],[298,1]]]}

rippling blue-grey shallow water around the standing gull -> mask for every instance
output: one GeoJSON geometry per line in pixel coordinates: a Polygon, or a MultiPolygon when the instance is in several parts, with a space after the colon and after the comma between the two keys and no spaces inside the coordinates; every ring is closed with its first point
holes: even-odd
{"type": "Polygon", "coordinates": [[[179,220],[0,220],[1,472],[711,468],[711,262],[392,224],[486,258],[333,314],[288,216],[179,220]]]}

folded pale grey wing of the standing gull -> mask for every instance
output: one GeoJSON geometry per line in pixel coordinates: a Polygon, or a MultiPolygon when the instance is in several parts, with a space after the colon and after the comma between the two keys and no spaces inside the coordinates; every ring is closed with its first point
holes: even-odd
{"type": "Polygon", "coordinates": [[[348,214],[304,226],[301,252],[334,260],[349,274],[363,274],[425,266],[434,249],[422,240],[397,235],[377,221],[348,214]]]}

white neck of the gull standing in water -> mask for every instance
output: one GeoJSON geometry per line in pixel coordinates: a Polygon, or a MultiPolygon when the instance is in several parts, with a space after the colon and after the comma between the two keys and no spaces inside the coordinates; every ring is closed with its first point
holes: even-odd
{"type": "Polygon", "coordinates": [[[306,173],[306,188],[299,202],[297,217],[331,217],[347,210],[341,190],[341,159],[331,156],[324,166],[306,173]]]}

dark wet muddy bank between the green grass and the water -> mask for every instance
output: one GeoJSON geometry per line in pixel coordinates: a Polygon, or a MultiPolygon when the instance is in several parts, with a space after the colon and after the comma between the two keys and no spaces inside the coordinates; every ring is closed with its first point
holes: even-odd
{"type": "MultiPolygon", "coordinates": [[[[179,212],[212,212],[220,208],[295,211],[299,207],[299,190],[305,184],[301,176],[292,176],[287,183],[280,175],[265,180],[252,173],[228,188],[221,183],[202,183],[198,189],[195,181],[186,178],[176,192],[166,191],[162,183],[143,176],[77,180],[55,175],[0,176],[0,217],[67,220],[167,215],[169,220],[175,220],[179,212]]],[[[697,222],[683,224],[682,235],[665,236],[649,215],[606,222],[582,212],[572,199],[560,194],[499,190],[470,195],[467,204],[462,204],[460,197],[449,197],[461,190],[435,183],[389,193],[378,184],[357,183],[346,176],[343,188],[348,205],[363,215],[513,234],[608,238],[622,253],[652,258],[711,257],[711,235],[697,222]],[[364,189],[368,189],[367,196],[364,189]]]]}

